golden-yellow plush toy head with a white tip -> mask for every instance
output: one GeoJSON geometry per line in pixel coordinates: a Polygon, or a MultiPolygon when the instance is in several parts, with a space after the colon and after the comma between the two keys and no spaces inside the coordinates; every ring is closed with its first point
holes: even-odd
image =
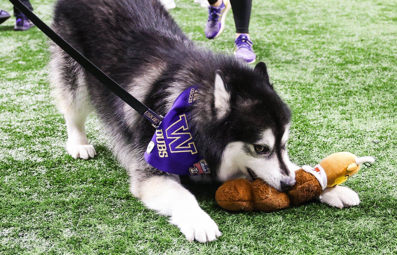
{"type": "Polygon", "coordinates": [[[320,162],[327,174],[327,187],[339,185],[357,173],[364,162],[374,162],[370,156],[357,157],[346,151],[333,153],[320,162]]]}

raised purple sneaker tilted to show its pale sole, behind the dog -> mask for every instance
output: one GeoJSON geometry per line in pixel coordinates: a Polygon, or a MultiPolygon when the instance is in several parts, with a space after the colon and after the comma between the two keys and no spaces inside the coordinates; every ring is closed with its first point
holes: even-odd
{"type": "Polygon", "coordinates": [[[205,26],[205,36],[208,39],[214,39],[223,32],[226,14],[230,8],[229,0],[223,0],[219,7],[208,7],[208,21],[205,26]]]}

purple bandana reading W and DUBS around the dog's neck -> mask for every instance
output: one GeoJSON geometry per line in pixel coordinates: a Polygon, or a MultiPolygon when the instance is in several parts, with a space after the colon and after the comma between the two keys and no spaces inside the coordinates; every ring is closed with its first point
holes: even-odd
{"type": "Polygon", "coordinates": [[[194,103],[197,86],[183,91],[164,117],[152,141],[145,160],[163,172],[178,175],[210,173],[207,162],[197,152],[189,125],[189,106],[194,103]]]}

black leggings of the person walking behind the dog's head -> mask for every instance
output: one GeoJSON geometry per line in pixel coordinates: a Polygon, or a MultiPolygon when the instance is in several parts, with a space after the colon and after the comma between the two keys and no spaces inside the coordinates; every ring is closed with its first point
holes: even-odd
{"type": "MultiPolygon", "coordinates": [[[[215,4],[217,0],[208,0],[209,4],[215,4]]],[[[251,17],[252,0],[230,0],[233,11],[236,33],[248,34],[249,19],[251,17]]]]}

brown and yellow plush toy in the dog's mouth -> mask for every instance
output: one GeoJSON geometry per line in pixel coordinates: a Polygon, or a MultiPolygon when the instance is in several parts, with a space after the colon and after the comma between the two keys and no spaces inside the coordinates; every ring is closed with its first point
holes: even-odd
{"type": "Polygon", "coordinates": [[[374,158],[338,152],[324,158],[314,168],[303,166],[297,170],[295,185],[285,193],[260,179],[253,182],[236,179],[222,184],[216,191],[215,199],[222,208],[229,211],[273,212],[320,196],[326,187],[339,185],[356,174],[365,162],[374,162],[374,158]]]}

